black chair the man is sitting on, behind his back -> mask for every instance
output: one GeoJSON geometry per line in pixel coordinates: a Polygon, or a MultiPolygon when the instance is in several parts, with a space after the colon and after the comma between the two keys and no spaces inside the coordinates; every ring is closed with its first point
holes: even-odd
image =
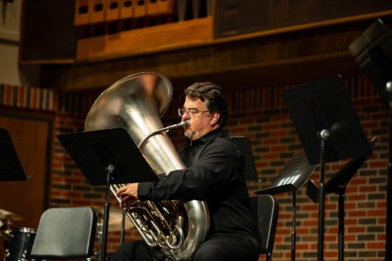
{"type": "Polygon", "coordinates": [[[272,251],[274,250],[279,203],[271,195],[252,196],[250,199],[252,215],[257,224],[260,253],[265,254],[265,259],[269,261],[272,260],[272,251]]]}

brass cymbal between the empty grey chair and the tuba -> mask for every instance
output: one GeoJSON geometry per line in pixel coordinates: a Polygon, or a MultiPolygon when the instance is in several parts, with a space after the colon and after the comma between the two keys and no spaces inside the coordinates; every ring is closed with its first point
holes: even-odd
{"type": "MultiPolygon", "coordinates": [[[[101,207],[101,206],[89,206],[89,207],[92,208],[92,210],[95,211],[96,214],[98,214],[98,219],[103,222],[105,208],[101,207]]],[[[110,207],[108,231],[110,231],[110,232],[120,231],[121,230],[121,222],[122,222],[121,208],[110,207]]],[[[128,217],[125,217],[124,230],[128,230],[133,227],[134,226],[133,226],[133,223],[131,222],[131,220],[128,217]]]]}

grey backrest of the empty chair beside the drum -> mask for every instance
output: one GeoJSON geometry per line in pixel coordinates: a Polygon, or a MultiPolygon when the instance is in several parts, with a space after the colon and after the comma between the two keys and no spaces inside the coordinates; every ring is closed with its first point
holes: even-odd
{"type": "Polygon", "coordinates": [[[46,210],[31,251],[35,259],[86,258],[92,255],[96,214],[90,207],[46,210]]]}

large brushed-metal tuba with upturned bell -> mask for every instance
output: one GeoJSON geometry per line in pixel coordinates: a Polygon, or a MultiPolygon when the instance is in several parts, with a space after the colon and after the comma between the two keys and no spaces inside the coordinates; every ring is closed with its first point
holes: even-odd
{"type": "MultiPolygon", "coordinates": [[[[107,88],[88,112],[85,131],[124,128],[156,174],[185,169],[160,117],[173,95],[170,81],[155,72],[130,75],[107,88]],[[154,135],[152,135],[154,134],[154,135]]],[[[183,122],[181,122],[183,123],[183,122]]],[[[186,123],[185,123],[186,124],[186,123]]],[[[177,124],[183,126],[183,124],[177,124]]],[[[119,186],[111,185],[116,196],[119,186]]],[[[127,206],[128,207],[128,206],[127,206]]],[[[210,216],[204,201],[139,201],[127,216],[150,247],[159,247],[169,258],[188,260],[205,240],[210,216]]]]}

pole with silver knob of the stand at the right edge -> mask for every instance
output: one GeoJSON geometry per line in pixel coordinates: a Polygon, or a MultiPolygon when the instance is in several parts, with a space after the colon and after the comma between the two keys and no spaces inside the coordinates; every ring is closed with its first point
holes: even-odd
{"type": "Polygon", "coordinates": [[[386,91],[389,94],[389,153],[388,168],[386,179],[386,243],[385,243],[385,260],[392,260],[392,82],[386,83],[386,91]]]}

